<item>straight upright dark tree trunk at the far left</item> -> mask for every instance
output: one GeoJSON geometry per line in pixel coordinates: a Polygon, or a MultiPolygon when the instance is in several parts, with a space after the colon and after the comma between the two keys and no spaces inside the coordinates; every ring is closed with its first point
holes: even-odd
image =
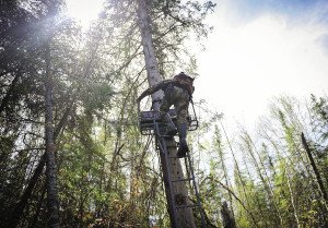
{"type": "Polygon", "coordinates": [[[50,72],[50,48],[46,47],[46,75],[45,75],[45,140],[46,140],[46,185],[48,227],[59,227],[58,193],[57,193],[57,167],[54,142],[52,118],[52,76],[50,72]]]}

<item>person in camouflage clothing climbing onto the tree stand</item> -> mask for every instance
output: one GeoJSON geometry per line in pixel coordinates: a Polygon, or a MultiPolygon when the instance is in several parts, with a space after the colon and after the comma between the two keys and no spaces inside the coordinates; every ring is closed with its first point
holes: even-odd
{"type": "Polygon", "coordinates": [[[165,80],[151,86],[150,88],[144,91],[137,100],[138,103],[140,103],[142,98],[160,89],[164,92],[164,97],[160,106],[161,119],[167,124],[165,132],[166,135],[175,135],[178,131],[179,147],[177,157],[179,158],[186,157],[186,153],[189,152],[186,136],[188,129],[188,107],[191,95],[195,91],[192,83],[194,79],[181,72],[175,75],[173,80],[165,80]],[[168,115],[168,110],[172,105],[174,105],[177,113],[177,128],[175,127],[168,115]]]}

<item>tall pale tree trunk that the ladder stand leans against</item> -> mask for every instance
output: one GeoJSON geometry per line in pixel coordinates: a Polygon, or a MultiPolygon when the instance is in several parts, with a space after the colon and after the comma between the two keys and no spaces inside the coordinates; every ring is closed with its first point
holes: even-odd
{"type": "MultiPolygon", "coordinates": [[[[153,39],[151,35],[151,21],[149,17],[149,11],[147,8],[145,0],[138,0],[138,9],[137,9],[137,15],[138,15],[138,22],[139,22],[139,29],[141,33],[141,39],[142,39],[142,47],[143,47],[143,55],[144,55],[144,61],[145,61],[145,69],[148,73],[148,82],[149,85],[154,85],[162,81],[162,77],[159,73],[159,67],[157,67],[157,60],[155,57],[155,51],[153,47],[153,39]]],[[[152,99],[160,99],[163,97],[163,93],[157,92],[152,95],[152,99]]],[[[154,104],[154,109],[159,110],[160,104],[154,104]]],[[[175,156],[176,155],[176,142],[174,139],[166,141],[167,145],[167,152],[168,156],[175,156]]],[[[161,153],[162,154],[162,153],[161,153]]],[[[172,179],[183,179],[183,169],[179,159],[169,159],[169,164],[166,164],[166,160],[163,156],[161,156],[161,163],[163,170],[165,170],[165,167],[169,167],[169,173],[172,179]]],[[[167,199],[167,204],[171,205],[171,192],[168,189],[168,180],[167,180],[167,173],[165,171],[163,172],[164,177],[164,185],[165,185],[165,193],[167,199]]],[[[176,182],[174,183],[174,195],[184,199],[185,203],[189,203],[188,200],[188,191],[185,182],[176,182]]],[[[194,228],[196,227],[192,209],[189,208],[180,208],[177,209],[177,224],[174,224],[173,220],[173,208],[168,206],[168,214],[172,221],[172,227],[175,228],[194,228]]]]}

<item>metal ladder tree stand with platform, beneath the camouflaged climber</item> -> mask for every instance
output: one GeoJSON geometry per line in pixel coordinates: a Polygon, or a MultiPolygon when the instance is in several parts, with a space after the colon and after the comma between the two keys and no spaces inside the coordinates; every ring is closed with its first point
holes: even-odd
{"type": "MultiPolygon", "coordinates": [[[[140,110],[140,108],[139,108],[140,110]]],[[[195,113],[194,105],[192,110],[195,113]]],[[[171,116],[171,119],[176,124],[176,112],[175,109],[169,109],[168,115],[171,116]]],[[[198,128],[198,120],[196,118],[196,115],[189,116],[189,124],[188,124],[188,131],[194,131],[198,128]]],[[[203,215],[203,209],[200,202],[200,196],[197,188],[197,183],[195,180],[195,172],[192,168],[192,163],[190,158],[189,152],[187,152],[187,155],[184,159],[185,161],[185,170],[186,173],[180,179],[173,179],[171,171],[171,163],[169,159],[178,159],[178,157],[172,156],[168,153],[168,147],[171,145],[167,145],[167,140],[172,140],[173,142],[174,135],[163,135],[166,130],[166,123],[164,123],[161,118],[159,111],[139,111],[139,124],[140,124],[140,131],[143,135],[154,135],[155,142],[156,142],[156,151],[159,152],[161,156],[161,167],[162,167],[162,175],[164,183],[166,183],[168,190],[166,189],[166,197],[168,202],[168,207],[171,211],[171,224],[173,228],[179,228],[178,227],[178,209],[192,207],[200,214],[200,226],[202,228],[206,228],[206,220],[203,215]],[[189,189],[191,195],[196,197],[196,202],[189,203],[191,201],[187,200],[185,201],[185,204],[180,204],[178,202],[177,195],[174,193],[174,184],[178,182],[189,182],[189,189]]],[[[175,147],[178,145],[175,143],[175,147]]]]}

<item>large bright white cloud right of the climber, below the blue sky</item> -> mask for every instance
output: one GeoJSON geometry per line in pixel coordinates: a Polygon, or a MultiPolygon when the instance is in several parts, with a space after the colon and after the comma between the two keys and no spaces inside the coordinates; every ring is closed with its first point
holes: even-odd
{"type": "Polygon", "coordinates": [[[291,24],[278,14],[238,24],[223,5],[210,23],[214,32],[199,56],[195,97],[225,116],[249,124],[273,96],[328,91],[328,58],[316,41],[328,32],[324,25],[291,24]]]}

